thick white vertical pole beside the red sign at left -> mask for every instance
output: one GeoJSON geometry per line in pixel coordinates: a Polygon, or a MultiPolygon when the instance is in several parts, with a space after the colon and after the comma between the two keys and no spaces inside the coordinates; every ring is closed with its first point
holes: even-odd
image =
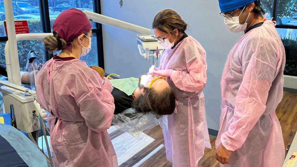
{"type": "Polygon", "coordinates": [[[21,86],[20,80],[20,64],[18,59],[18,47],[15,36],[15,21],[13,18],[12,0],[4,0],[4,10],[7,26],[8,50],[9,54],[5,54],[7,66],[7,75],[9,82],[21,86]]]}

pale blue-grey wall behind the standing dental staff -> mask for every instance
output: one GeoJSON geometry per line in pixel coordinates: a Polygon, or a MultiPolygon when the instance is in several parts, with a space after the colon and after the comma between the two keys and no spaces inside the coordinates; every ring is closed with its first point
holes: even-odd
{"type": "MultiPolygon", "coordinates": [[[[227,55],[241,34],[229,32],[219,15],[217,0],[101,0],[103,15],[151,28],[154,16],[162,9],[176,10],[189,25],[193,36],[206,50],[207,84],[203,90],[208,128],[219,130],[220,80],[227,55]]],[[[135,33],[103,25],[104,63],[107,73],[139,77],[145,59],[139,55],[135,33]]]]}

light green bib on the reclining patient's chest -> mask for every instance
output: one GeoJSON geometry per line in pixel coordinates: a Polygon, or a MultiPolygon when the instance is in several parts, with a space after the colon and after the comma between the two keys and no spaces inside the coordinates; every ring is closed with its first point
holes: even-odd
{"type": "Polygon", "coordinates": [[[132,95],[138,86],[138,78],[123,78],[123,79],[111,79],[109,80],[111,85],[122,92],[126,93],[128,96],[132,95]]]}

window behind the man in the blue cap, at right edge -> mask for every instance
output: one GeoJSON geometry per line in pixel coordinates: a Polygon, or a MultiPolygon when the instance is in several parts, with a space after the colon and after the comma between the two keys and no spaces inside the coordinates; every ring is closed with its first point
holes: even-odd
{"type": "Polygon", "coordinates": [[[279,37],[285,47],[285,75],[297,76],[297,1],[261,0],[268,18],[273,17],[279,37]]]}

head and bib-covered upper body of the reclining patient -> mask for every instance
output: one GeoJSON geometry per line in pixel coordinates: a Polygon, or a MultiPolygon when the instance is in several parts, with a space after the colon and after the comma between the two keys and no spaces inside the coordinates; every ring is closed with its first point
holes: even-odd
{"type": "Polygon", "coordinates": [[[114,114],[135,108],[139,112],[154,111],[159,115],[172,114],[175,109],[175,94],[164,79],[157,79],[151,85],[155,76],[141,75],[138,78],[113,79],[111,92],[116,106],[114,114]]]}

